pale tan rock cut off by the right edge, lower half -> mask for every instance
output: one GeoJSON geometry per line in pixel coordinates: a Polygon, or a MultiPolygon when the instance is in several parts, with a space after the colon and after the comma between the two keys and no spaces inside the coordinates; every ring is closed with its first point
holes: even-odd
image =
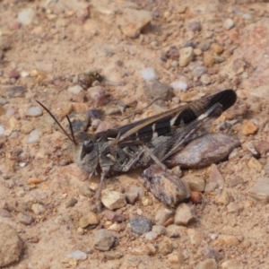
{"type": "Polygon", "coordinates": [[[269,178],[259,178],[256,184],[248,191],[248,195],[256,200],[268,203],[269,202],[269,178]]]}

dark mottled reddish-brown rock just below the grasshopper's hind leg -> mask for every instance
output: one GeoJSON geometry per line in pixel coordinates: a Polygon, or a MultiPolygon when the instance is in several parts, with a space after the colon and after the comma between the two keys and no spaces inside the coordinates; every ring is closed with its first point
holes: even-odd
{"type": "Polygon", "coordinates": [[[189,198],[189,191],[182,180],[174,173],[152,165],[140,176],[143,185],[164,204],[175,207],[189,198]]]}

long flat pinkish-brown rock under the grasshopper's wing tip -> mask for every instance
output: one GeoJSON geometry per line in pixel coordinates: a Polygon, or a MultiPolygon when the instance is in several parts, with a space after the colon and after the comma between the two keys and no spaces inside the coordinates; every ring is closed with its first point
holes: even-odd
{"type": "Polygon", "coordinates": [[[236,136],[228,134],[205,134],[187,144],[171,158],[181,168],[202,168],[225,160],[230,152],[240,146],[236,136]]]}

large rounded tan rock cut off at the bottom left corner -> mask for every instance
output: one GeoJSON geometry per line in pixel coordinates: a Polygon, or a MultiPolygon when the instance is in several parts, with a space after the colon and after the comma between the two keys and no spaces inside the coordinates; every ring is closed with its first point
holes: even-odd
{"type": "Polygon", "coordinates": [[[0,223],[0,267],[18,261],[22,253],[22,239],[10,225],[0,223]]]}

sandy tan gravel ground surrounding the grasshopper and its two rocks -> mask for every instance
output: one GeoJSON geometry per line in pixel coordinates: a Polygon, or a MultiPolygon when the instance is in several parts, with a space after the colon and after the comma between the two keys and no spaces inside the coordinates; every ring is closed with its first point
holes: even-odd
{"type": "Polygon", "coordinates": [[[189,2],[0,1],[1,268],[269,268],[269,4],[189,2]],[[192,202],[174,209],[135,169],[97,213],[100,176],[36,102],[96,132],[225,89],[238,101],[213,131],[241,146],[184,169],[192,202]]]}

